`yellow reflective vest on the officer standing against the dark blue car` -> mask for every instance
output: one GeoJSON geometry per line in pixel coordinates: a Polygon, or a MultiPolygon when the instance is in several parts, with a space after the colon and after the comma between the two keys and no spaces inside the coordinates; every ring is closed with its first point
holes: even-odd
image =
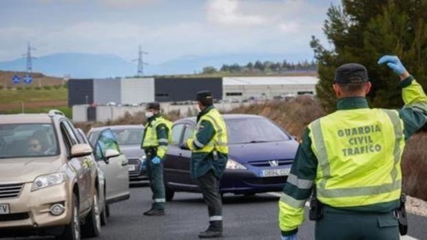
{"type": "Polygon", "coordinates": [[[201,149],[194,149],[193,152],[195,153],[210,153],[214,149],[220,153],[229,152],[227,145],[227,127],[225,126],[224,118],[222,118],[217,109],[211,109],[200,118],[197,123],[196,131],[193,133],[192,139],[196,146],[202,146],[201,149]],[[203,120],[210,122],[213,126],[213,129],[215,130],[215,135],[213,135],[211,141],[205,145],[201,144],[196,138],[197,130],[200,129],[200,123],[203,120]]]}

